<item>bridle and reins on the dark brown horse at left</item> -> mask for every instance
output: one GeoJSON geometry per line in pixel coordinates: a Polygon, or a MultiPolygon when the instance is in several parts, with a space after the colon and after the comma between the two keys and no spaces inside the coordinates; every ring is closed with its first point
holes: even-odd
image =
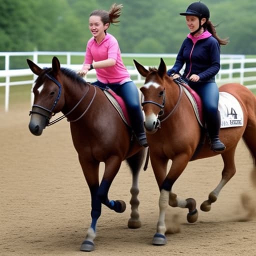
{"type": "MultiPolygon", "coordinates": [[[[57,96],[56,96],[56,98],[55,98],[55,100],[54,100],[54,102],[53,102],[53,104],[52,104],[52,106],[51,106],[50,109],[49,109],[49,108],[46,108],[46,107],[43,107],[43,106],[40,106],[40,105],[38,105],[38,104],[33,104],[31,111],[29,111],[29,115],[32,114],[32,113],[36,113],[36,114],[39,114],[39,115],[44,116],[44,117],[46,118],[46,120],[47,120],[46,126],[49,126],[49,125],[52,125],[52,124],[54,124],[54,123],[60,121],[61,119],[65,118],[68,114],[70,114],[70,113],[80,104],[80,102],[83,100],[83,98],[85,97],[85,95],[87,94],[87,92],[89,91],[89,89],[90,89],[91,86],[90,86],[90,85],[88,86],[88,89],[85,91],[85,93],[82,95],[82,97],[81,97],[81,98],[79,99],[79,101],[73,106],[73,108],[72,108],[70,111],[68,111],[66,114],[63,114],[63,115],[59,116],[58,118],[56,118],[55,120],[53,120],[53,121],[50,122],[50,121],[49,121],[50,118],[54,115],[54,113],[52,113],[52,112],[53,112],[53,109],[55,108],[55,106],[56,106],[56,104],[58,103],[58,100],[59,100],[59,98],[60,98],[61,91],[62,91],[62,86],[61,86],[60,82],[59,82],[57,79],[55,79],[53,76],[49,75],[48,73],[45,73],[45,75],[46,75],[51,81],[53,81],[53,82],[58,86],[58,94],[57,94],[57,96]]],[[[94,88],[93,96],[92,96],[92,98],[91,98],[89,104],[87,105],[87,107],[86,107],[85,110],[83,111],[83,113],[82,113],[78,118],[76,118],[76,119],[74,119],[74,120],[69,120],[69,119],[67,119],[67,121],[70,121],[70,122],[78,121],[78,120],[86,113],[86,111],[87,111],[88,108],[90,107],[90,105],[91,105],[91,103],[92,103],[92,101],[94,100],[95,95],[96,95],[96,88],[95,88],[95,86],[92,86],[92,87],[94,88]]]]}

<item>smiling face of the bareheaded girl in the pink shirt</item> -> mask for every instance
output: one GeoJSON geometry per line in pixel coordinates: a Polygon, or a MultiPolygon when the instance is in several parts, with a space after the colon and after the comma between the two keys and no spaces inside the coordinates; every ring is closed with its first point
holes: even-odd
{"type": "Polygon", "coordinates": [[[89,30],[97,41],[101,41],[105,36],[105,30],[109,23],[103,24],[100,16],[92,15],[89,17],[89,30]]]}

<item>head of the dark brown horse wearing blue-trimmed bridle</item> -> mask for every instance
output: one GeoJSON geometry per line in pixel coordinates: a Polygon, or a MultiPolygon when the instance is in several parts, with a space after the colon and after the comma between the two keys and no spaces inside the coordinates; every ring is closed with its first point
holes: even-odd
{"type": "Polygon", "coordinates": [[[29,130],[40,135],[48,125],[51,116],[61,111],[64,95],[61,93],[60,63],[57,57],[52,58],[51,68],[40,68],[32,60],[27,59],[31,71],[38,75],[33,86],[34,101],[30,111],[29,130]]]}

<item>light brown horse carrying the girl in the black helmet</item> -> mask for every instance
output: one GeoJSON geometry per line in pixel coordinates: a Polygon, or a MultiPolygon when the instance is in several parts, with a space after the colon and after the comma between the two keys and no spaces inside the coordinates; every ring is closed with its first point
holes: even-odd
{"type": "MultiPolygon", "coordinates": [[[[165,210],[168,206],[188,208],[187,221],[197,220],[198,211],[193,198],[181,199],[172,192],[172,185],[185,169],[188,161],[214,156],[207,140],[194,155],[200,141],[201,128],[198,124],[192,105],[183,92],[182,86],[166,74],[166,66],[161,59],[158,69],[149,68],[134,60],[138,72],[145,77],[140,88],[145,113],[144,126],[150,151],[150,161],[160,190],[159,218],[152,243],[166,243],[165,210]],[[167,162],[171,159],[170,169],[167,162]],[[167,173],[167,174],[166,174],[167,173]]],[[[254,159],[256,157],[256,97],[245,86],[227,83],[219,88],[232,94],[240,103],[243,112],[243,126],[221,128],[220,138],[226,145],[221,152],[224,167],[217,186],[209,193],[208,199],[202,202],[200,209],[209,211],[220,190],[235,173],[234,153],[242,137],[254,159]]]]}

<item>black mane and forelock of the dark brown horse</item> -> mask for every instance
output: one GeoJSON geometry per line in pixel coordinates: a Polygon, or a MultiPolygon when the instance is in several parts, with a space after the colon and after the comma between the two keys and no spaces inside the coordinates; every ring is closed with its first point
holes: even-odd
{"type": "MultiPolygon", "coordinates": [[[[43,81],[45,79],[46,73],[53,76],[51,67],[44,67],[42,70],[43,71],[40,73],[40,75],[35,80],[34,89],[37,89],[38,87],[41,86],[41,84],[43,83],[43,81]]],[[[80,75],[78,75],[74,70],[72,70],[70,68],[60,67],[60,71],[62,74],[64,74],[66,77],[68,77],[72,82],[81,84],[82,86],[84,86],[87,83],[80,75]]]]}

